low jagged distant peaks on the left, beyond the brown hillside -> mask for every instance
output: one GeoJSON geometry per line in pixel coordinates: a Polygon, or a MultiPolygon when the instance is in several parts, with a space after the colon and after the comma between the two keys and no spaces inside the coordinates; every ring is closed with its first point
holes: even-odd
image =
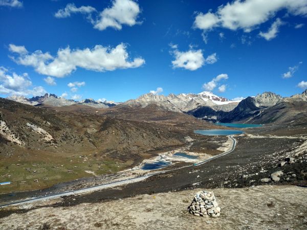
{"type": "Polygon", "coordinates": [[[35,106],[41,106],[41,105],[47,105],[47,106],[53,106],[53,107],[61,107],[61,106],[69,106],[69,105],[86,105],[94,108],[108,108],[117,105],[118,103],[115,102],[108,102],[108,101],[95,101],[94,99],[84,99],[82,101],[74,101],[74,100],[68,100],[65,98],[60,98],[54,94],[45,94],[43,96],[33,97],[33,98],[26,98],[24,96],[10,96],[7,97],[8,100],[16,101],[28,105],[35,105],[35,106]]]}

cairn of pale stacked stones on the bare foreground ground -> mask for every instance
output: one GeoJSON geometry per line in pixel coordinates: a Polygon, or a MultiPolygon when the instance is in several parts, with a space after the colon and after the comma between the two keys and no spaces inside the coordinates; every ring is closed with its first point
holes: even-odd
{"type": "Polygon", "coordinates": [[[218,207],[213,192],[201,191],[194,196],[188,212],[194,216],[206,217],[208,215],[218,217],[221,215],[221,208],[218,207]]]}

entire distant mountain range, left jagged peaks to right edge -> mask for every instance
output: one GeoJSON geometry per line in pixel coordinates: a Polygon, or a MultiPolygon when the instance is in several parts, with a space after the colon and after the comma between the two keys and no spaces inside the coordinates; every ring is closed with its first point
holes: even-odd
{"type": "MultiPolygon", "coordinates": [[[[74,101],[57,97],[54,94],[45,94],[33,98],[11,96],[7,99],[39,107],[55,107],[62,111],[90,112],[92,107],[95,108],[96,113],[99,112],[100,114],[127,111],[129,108],[146,108],[153,104],[156,105],[154,109],[187,113],[195,118],[214,123],[269,123],[276,120],[283,121],[286,119],[284,118],[286,115],[288,116],[286,116],[287,119],[290,119],[291,116],[296,115],[294,110],[305,108],[306,103],[303,102],[307,101],[307,90],[302,94],[286,98],[272,92],[265,92],[241,101],[219,97],[209,91],[203,91],[200,94],[169,94],[168,96],[149,93],[123,103],[101,102],[93,99],[74,101]],[[111,107],[114,107],[114,109],[111,109],[111,107]],[[111,110],[99,111],[97,109],[111,110]],[[272,112],[272,110],[275,112],[272,112]]],[[[138,113],[140,114],[141,110],[138,113]]]]}

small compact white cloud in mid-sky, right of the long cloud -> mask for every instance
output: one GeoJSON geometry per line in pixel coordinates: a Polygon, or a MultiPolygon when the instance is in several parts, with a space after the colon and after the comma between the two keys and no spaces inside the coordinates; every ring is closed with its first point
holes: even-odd
{"type": "Polygon", "coordinates": [[[213,64],[217,61],[216,53],[204,58],[202,50],[193,50],[192,47],[186,52],[181,52],[177,50],[176,46],[176,50],[170,53],[172,53],[175,58],[175,60],[171,62],[173,68],[185,68],[190,71],[195,71],[205,64],[213,64]]]}

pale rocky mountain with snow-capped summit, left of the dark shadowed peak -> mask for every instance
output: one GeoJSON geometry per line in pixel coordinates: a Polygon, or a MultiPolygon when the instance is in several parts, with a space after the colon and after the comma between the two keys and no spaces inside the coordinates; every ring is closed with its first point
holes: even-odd
{"type": "Polygon", "coordinates": [[[169,94],[168,96],[149,93],[135,100],[128,100],[123,105],[144,108],[147,105],[156,104],[166,110],[176,112],[189,111],[199,106],[208,106],[213,110],[230,111],[237,106],[238,102],[216,96],[209,91],[204,91],[200,94],[169,94]]]}

